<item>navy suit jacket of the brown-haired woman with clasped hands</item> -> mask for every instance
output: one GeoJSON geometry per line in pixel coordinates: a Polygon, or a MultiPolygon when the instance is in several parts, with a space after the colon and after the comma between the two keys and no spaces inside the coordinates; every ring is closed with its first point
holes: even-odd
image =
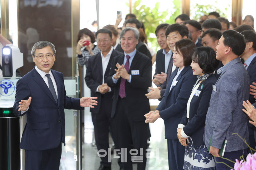
{"type": "Polygon", "coordinates": [[[164,119],[165,138],[172,140],[178,140],[177,127],[181,122],[182,116],[186,113],[186,104],[193,85],[197,80],[196,76],[193,75],[191,66],[188,65],[181,71],[176,79],[178,81],[176,86],[173,86],[170,91],[172,81],[177,75],[177,72],[178,69],[171,74],[163,99],[156,108],[156,110],[160,111],[160,117],[164,119]]]}

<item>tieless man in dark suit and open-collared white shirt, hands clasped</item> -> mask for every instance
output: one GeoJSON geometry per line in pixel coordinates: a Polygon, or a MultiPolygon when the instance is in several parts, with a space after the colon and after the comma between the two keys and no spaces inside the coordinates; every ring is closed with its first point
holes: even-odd
{"type": "Polygon", "coordinates": [[[91,109],[92,123],[94,126],[97,149],[103,149],[107,155],[101,158],[99,170],[111,170],[111,162],[108,161],[109,128],[111,124],[111,105],[113,91],[106,84],[112,60],[122,54],[112,47],[112,32],[101,29],[96,32],[97,46],[100,52],[88,60],[85,82],[91,89],[91,96],[98,97],[98,105],[91,109]]]}

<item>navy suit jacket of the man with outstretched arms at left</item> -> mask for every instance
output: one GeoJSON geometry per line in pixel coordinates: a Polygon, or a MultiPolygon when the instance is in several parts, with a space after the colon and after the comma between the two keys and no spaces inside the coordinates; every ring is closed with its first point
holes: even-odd
{"type": "Polygon", "coordinates": [[[21,79],[16,86],[13,112],[16,116],[27,115],[21,138],[20,148],[41,151],[57,148],[60,142],[65,145],[65,109],[84,109],[80,99],[66,96],[63,74],[51,70],[58,89],[58,103],[55,102],[50,89],[35,67],[21,79]],[[21,114],[19,102],[32,97],[28,111],[21,114]]]}

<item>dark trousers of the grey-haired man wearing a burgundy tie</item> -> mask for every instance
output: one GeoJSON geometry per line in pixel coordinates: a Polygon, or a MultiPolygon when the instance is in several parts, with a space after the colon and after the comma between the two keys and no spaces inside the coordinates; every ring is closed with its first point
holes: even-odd
{"type": "Polygon", "coordinates": [[[137,169],[144,170],[147,162],[147,138],[150,137],[149,125],[144,121],[133,121],[130,113],[127,112],[127,107],[126,98],[119,98],[113,117],[113,132],[114,134],[116,133],[114,136],[117,136],[118,149],[123,149],[123,153],[121,153],[123,168],[125,170],[132,170],[132,164],[137,163],[137,169]],[[133,155],[130,154],[131,149],[136,149],[136,152],[132,150],[133,155]],[[135,153],[137,154],[134,155],[135,153]],[[139,157],[136,160],[140,162],[135,162],[135,159],[132,160],[134,156],[139,157]]]}

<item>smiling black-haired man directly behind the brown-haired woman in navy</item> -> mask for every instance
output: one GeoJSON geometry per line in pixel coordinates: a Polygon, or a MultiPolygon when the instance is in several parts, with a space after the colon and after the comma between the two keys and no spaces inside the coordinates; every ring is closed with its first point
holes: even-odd
{"type": "MultiPolygon", "coordinates": [[[[173,51],[175,43],[181,39],[185,39],[188,37],[188,28],[185,25],[180,24],[172,24],[169,25],[165,31],[165,36],[167,37],[167,45],[171,51],[173,51]]],[[[169,82],[169,78],[173,71],[175,71],[176,66],[173,65],[173,59],[170,60],[169,68],[167,70],[167,76],[164,83],[160,85],[158,88],[151,88],[148,94],[146,94],[148,99],[161,99],[164,95],[167,83],[169,82]]]]}

